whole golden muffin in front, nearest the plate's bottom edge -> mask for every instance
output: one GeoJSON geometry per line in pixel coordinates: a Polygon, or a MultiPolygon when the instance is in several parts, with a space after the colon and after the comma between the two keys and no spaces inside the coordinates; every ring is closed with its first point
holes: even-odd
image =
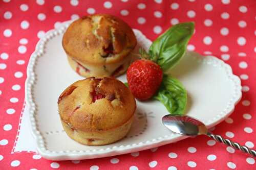
{"type": "Polygon", "coordinates": [[[79,80],[58,98],[61,124],[69,137],[86,145],[104,145],[129,132],[136,102],[114,78],[79,80]]]}

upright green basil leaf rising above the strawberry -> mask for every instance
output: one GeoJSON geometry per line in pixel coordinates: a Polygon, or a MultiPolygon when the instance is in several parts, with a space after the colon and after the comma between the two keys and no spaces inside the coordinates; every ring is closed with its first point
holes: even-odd
{"type": "Polygon", "coordinates": [[[163,71],[172,68],[184,56],[194,27],[194,22],[183,22],[165,31],[150,46],[148,54],[151,60],[163,71]]]}

